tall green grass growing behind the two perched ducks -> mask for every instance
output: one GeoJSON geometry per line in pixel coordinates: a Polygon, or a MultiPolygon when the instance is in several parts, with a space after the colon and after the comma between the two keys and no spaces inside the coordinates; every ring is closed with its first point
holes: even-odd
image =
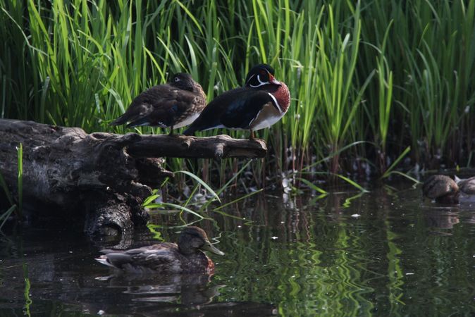
{"type": "MultiPolygon", "coordinates": [[[[335,153],[321,169],[352,172],[364,161],[384,175],[409,146],[411,164],[427,168],[464,166],[474,151],[475,0],[0,0],[0,8],[2,118],[111,130],[133,97],[170,73],[191,73],[211,100],[264,62],[292,103],[259,131],[270,153],[247,167],[258,186],[335,153]],[[358,145],[340,151],[348,144],[358,145]]],[[[167,161],[221,185],[243,163],[167,161]]]]}

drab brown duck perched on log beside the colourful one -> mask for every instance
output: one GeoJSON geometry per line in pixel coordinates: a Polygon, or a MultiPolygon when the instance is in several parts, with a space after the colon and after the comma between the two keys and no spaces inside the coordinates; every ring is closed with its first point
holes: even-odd
{"type": "Polygon", "coordinates": [[[206,95],[191,75],[178,73],[171,82],[157,85],[139,94],[125,113],[111,125],[128,123],[127,128],[151,125],[173,129],[189,125],[206,106],[206,95]]]}

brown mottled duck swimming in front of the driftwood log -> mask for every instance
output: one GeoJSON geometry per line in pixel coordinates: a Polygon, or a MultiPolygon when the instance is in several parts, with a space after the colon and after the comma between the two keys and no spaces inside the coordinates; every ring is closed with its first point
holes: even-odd
{"type": "Polygon", "coordinates": [[[214,263],[201,250],[224,255],[201,228],[187,227],[175,243],[162,242],[125,251],[101,250],[97,261],[126,273],[213,273],[214,263]]]}

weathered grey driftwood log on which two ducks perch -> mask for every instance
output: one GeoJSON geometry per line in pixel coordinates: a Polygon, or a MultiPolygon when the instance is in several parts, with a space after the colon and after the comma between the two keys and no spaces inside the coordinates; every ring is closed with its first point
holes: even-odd
{"type": "MultiPolygon", "coordinates": [[[[160,157],[258,158],[259,139],[183,135],[87,134],[31,121],[0,120],[0,172],[15,194],[17,151],[23,144],[23,202],[32,216],[57,211],[90,235],[118,235],[147,223],[142,201],[173,173],[160,157]]],[[[1,197],[0,189],[0,197],[1,197]]]]}

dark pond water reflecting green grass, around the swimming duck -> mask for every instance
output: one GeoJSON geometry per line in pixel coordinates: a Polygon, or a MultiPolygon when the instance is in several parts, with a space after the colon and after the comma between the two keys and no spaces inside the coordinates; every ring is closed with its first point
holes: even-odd
{"type": "MultiPolygon", "coordinates": [[[[102,247],[156,241],[143,232],[1,237],[0,316],[474,316],[475,204],[438,206],[409,183],[357,194],[261,195],[208,213],[195,225],[226,253],[211,256],[211,278],[110,276],[94,261],[102,247]]],[[[183,220],[196,218],[154,216],[183,220]]],[[[174,241],[180,228],[154,230],[174,241]]]]}

